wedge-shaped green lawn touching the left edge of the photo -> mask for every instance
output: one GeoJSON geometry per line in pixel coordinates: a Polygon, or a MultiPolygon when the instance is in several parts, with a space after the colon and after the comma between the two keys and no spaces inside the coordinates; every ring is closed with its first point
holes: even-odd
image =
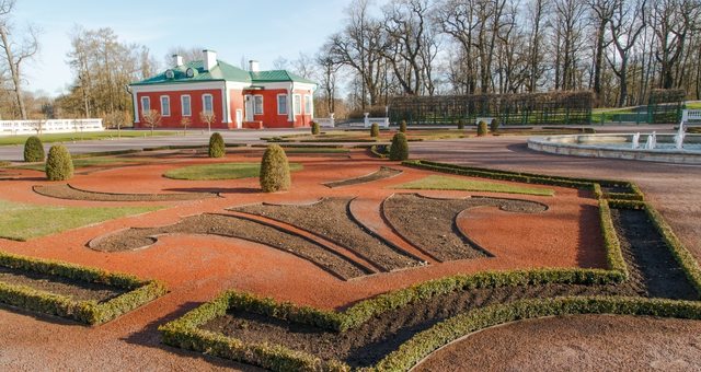
{"type": "Polygon", "coordinates": [[[162,207],[57,207],[0,200],[0,237],[26,241],[162,207]]]}

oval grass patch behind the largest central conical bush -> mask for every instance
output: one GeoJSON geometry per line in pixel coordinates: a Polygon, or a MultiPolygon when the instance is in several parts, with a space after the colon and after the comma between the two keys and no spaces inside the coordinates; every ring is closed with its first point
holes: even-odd
{"type": "MultiPolygon", "coordinates": [[[[302,164],[289,163],[291,172],[301,171],[302,164]]],[[[219,163],[191,165],[168,171],[164,177],[189,181],[237,179],[260,176],[261,163],[219,163]]]]}

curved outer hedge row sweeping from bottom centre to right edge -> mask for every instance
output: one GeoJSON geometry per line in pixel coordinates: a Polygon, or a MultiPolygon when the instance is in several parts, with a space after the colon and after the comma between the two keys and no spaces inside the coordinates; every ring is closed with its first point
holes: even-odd
{"type": "Polygon", "coordinates": [[[406,371],[432,352],[486,327],[543,316],[575,314],[647,315],[701,319],[701,302],[620,297],[522,300],[486,306],[438,323],[414,335],[370,371],[406,371]]]}

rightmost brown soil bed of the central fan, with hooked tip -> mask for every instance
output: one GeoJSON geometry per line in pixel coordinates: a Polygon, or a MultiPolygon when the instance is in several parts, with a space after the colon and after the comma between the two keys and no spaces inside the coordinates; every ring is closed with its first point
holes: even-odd
{"type": "Polygon", "coordinates": [[[458,229],[458,216],[469,208],[498,207],[504,211],[538,213],[547,206],[528,200],[472,197],[434,199],[416,194],[398,194],[382,202],[382,214],[405,240],[439,261],[489,256],[458,229]]]}

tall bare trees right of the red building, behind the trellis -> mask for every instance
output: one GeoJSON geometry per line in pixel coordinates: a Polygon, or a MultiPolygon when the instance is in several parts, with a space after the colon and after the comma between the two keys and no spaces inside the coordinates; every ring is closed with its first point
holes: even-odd
{"type": "MultiPolygon", "coordinates": [[[[329,108],[393,95],[591,90],[601,106],[653,89],[701,98],[701,0],[352,0],[315,58],[329,108]]],[[[332,109],[330,109],[332,111],[332,109]]]]}

